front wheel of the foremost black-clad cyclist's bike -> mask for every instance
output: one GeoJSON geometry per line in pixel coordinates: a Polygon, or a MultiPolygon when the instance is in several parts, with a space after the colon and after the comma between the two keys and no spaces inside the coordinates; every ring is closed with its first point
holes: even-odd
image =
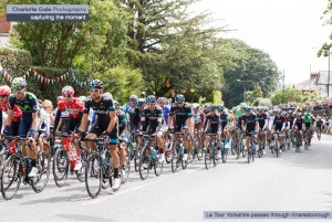
{"type": "Polygon", "coordinates": [[[94,199],[98,195],[102,189],[102,166],[100,157],[97,154],[93,154],[87,158],[86,169],[85,169],[85,187],[89,195],[94,199]]]}

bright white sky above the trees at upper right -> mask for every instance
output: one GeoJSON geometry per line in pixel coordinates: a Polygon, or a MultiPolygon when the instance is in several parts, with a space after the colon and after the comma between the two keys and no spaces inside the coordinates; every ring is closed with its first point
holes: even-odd
{"type": "Polygon", "coordinates": [[[208,11],[217,19],[212,25],[235,30],[222,38],[269,53],[292,85],[309,80],[310,71],[329,70],[328,57],[317,57],[332,33],[321,19],[326,7],[328,0],[200,0],[189,10],[208,11]]]}

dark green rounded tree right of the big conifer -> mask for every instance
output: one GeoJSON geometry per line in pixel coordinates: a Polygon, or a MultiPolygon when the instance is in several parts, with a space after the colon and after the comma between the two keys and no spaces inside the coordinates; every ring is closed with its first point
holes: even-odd
{"type": "Polygon", "coordinates": [[[245,88],[250,91],[255,84],[261,87],[263,97],[270,96],[280,80],[280,72],[270,55],[238,40],[234,40],[234,47],[241,53],[232,61],[236,65],[224,74],[226,106],[232,107],[243,102],[241,92],[245,88]]]}

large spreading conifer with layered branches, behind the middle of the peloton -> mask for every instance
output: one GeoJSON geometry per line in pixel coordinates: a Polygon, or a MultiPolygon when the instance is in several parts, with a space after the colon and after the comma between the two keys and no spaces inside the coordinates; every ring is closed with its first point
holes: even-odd
{"type": "Polygon", "coordinates": [[[222,29],[206,28],[208,14],[189,15],[187,7],[195,0],[123,2],[132,14],[128,59],[133,66],[142,67],[151,91],[164,95],[169,91],[164,87],[167,80],[176,92],[195,88],[196,93],[188,96],[196,101],[198,95],[211,96],[212,91],[220,91],[222,59],[231,54],[231,49],[216,38],[222,29]]]}

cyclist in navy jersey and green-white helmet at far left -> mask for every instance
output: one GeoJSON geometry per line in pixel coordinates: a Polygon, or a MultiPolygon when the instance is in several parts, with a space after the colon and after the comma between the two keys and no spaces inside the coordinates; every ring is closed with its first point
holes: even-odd
{"type": "Polygon", "coordinates": [[[34,138],[38,135],[38,112],[40,109],[38,99],[34,94],[27,92],[27,82],[22,77],[13,78],[11,91],[14,92],[14,94],[9,97],[9,110],[3,133],[9,133],[13,119],[14,106],[17,105],[22,110],[19,136],[22,138],[28,136],[32,149],[30,151],[28,150],[28,146],[23,147],[23,155],[31,159],[31,171],[28,177],[37,177],[37,147],[34,145],[34,138]]]}

